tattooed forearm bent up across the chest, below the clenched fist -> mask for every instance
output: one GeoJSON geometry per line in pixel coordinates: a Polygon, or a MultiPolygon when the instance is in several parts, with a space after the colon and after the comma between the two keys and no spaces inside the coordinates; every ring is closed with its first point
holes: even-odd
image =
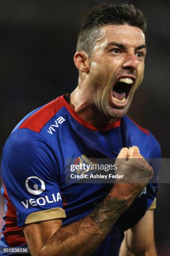
{"type": "Polygon", "coordinates": [[[132,199],[117,198],[113,196],[113,193],[112,196],[108,195],[90,215],[76,223],[60,228],[54,233],[40,254],[47,255],[48,253],[52,256],[90,255],[131,202],[132,199]]]}

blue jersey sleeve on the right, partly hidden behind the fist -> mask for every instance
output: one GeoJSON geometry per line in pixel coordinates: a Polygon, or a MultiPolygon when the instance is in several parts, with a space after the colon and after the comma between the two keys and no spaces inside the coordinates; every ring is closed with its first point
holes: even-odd
{"type": "Polygon", "coordinates": [[[158,175],[160,172],[160,158],[161,158],[161,148],[158,141],[150,133],[150,159],[149,164],[153,167],[154,176],[147,186],[147,209],[153,210],[156,208],[156,197],[158,192],[158,175]]]}

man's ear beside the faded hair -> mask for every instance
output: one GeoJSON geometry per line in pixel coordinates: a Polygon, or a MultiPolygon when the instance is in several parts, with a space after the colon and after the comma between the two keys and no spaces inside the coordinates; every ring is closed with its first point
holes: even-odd
{"type": "Polygon", "coordinates": [[[74,63],[78,70],[88,73],[90,70],[90,61],[84,51],[77,51],[74,56],[74,63]]]}

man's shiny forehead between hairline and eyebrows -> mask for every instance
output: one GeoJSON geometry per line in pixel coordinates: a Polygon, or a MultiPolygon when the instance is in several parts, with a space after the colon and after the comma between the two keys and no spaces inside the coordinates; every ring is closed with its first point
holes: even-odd
{"type": "Polygon", "coordinates": [[[97,39],[95,47],[106,46],[112,41],[134,48],[145,44],[143,31],[138,27],[128,24],[103,26],[100,28],[100,33],[101,37],[97,39]]]}

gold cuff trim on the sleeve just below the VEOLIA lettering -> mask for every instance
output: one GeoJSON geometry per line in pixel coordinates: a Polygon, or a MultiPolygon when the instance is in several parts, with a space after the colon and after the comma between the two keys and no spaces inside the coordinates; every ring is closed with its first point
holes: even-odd
{"type": "Polygon", "coordinates": [[[66,217],[65,211],[60,207],[56,207],[48,210],[30,213],[25,220],[25,224],[34,223],[34,222],[43,221],[43,220],[65,218],[65,217],[66,217]]]}

